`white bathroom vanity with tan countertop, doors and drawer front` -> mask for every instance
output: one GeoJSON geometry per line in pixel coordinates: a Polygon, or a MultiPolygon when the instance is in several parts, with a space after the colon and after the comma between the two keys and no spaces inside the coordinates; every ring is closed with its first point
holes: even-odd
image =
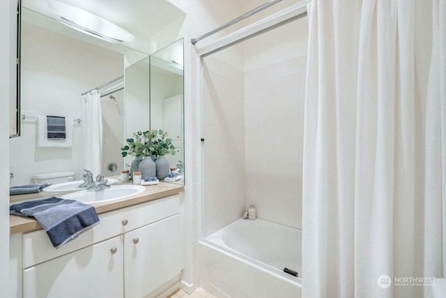
{"type": "Polygon", "coordinates": [[[57,250],[36,221],[11,216],[10,297],[167,296],[183,269],[183,190],[161,182],[93,204],[100,224],[57,250]]]}

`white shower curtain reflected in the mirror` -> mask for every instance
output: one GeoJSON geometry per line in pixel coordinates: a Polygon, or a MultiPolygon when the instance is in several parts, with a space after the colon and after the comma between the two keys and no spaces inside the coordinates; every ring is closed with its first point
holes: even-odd
{"type": "Polygon", "coordinates": [[[81,172],[90,170],[93,175],[101,172],[102,161],[102,112],[100,91],[93,90],[82,96],[82,158],[81,172]]]}

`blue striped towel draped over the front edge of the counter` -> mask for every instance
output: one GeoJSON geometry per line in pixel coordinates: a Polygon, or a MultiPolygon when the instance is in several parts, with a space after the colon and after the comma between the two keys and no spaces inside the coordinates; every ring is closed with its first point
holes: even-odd
{"type": "Polygon", "coordinates": [[[93,206],[56,197],[11,205],[9,213],[36,218],[55,248],[99,224],[93,206]]]}

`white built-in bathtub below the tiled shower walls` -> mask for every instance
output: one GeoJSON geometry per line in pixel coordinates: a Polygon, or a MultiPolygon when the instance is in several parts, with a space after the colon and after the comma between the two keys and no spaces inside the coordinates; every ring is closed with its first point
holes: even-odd
{"type": "Polygon", "coordinates": [[[216,297],[301,297],[301,230],[240,218],[200,245],[201,286],[216,297]],[[298,277],[284,273],[285,267],[298,277]]]}

